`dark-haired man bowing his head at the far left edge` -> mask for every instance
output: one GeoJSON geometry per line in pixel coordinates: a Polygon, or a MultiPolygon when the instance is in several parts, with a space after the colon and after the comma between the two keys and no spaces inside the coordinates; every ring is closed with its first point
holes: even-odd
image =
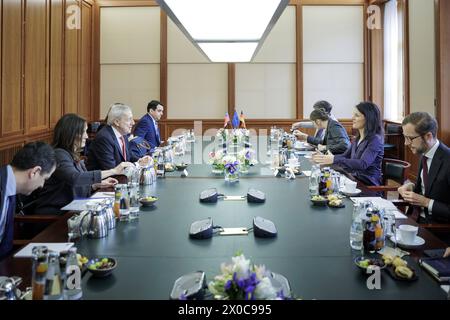
{"type": "Polygon", "coordinates": [[[16,194],[41,188],[56,168],[55,152],[44,142],[26,144],[10,165],[0,168],[0,259],[13,248],[16,194]]]}

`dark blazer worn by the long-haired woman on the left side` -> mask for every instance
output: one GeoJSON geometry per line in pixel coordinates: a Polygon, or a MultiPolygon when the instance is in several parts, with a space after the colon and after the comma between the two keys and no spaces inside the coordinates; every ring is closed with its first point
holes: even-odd
{"type": "Polygon", "coordinates": [[[87,171],[83,161],[75,161],[64,149],[55,149],[56,170],[37,191],[34,213],[59,214],[75,198],[91,195],[91,186],[102,181],[100,170],[87,171]]]}

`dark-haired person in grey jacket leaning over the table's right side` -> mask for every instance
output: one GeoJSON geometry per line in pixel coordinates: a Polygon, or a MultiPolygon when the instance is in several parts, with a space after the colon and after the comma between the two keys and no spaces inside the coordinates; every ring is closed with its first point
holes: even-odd
{"type": "Polygon", "coordinates": [[[320,151],[329,150],[332,154],[344,153],[350,147],[350,139],[344,127],[336,120],[331,119],[324,110],[313,110],[309,119],[314,122],[317,130],[325,130],[325,137],[322,141],[317,141],[314,137],[295,130],[294,134],[299,140],[306,138],[308,143],[317,145],[320,151]]]}

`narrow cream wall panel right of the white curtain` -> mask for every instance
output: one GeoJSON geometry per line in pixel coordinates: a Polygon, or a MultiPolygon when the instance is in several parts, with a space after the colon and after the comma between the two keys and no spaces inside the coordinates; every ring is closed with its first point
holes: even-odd
{"type": "Polygon", "coordinates": [[[434,0],[409,0],[410,111],[435,114],[434,0]]]}

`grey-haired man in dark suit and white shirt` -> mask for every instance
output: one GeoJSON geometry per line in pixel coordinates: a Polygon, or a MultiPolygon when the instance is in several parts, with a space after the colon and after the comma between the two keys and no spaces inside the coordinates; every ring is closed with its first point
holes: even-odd
{"type": "Polygon", "coordinates": [[[88,151],[88,170],[109,170],[121,162],[148,161],[136,158],[131,152],[128,135],[134,125],[131,108],[114,103],[108,112],[106,125],[96,134],[88,151]]]}

